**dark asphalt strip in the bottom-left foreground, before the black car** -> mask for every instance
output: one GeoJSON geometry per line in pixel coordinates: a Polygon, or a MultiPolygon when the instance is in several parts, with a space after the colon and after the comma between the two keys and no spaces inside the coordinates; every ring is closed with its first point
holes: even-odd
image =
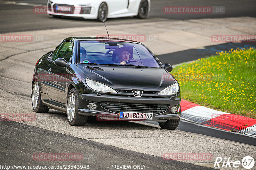
{"type": "MultiPolygon", "coordinates": [[[[132,164],[145,165],[145,169],[202,169],[202,166],[176,160],[166,161],[160,157],[71,137],[13,121],[0,121],[0,129],[2,134],[0,138],[1,165],[58,166],[75,164],[89,165],[90,169],[110,169],[111,165],[132,164]],[[51,161],[50,163],[49,161],[40,161],[39,163],[33,159],[33,155],[42,152],[81,153],[83,160],[51,161]]],[[[212,168],[204,167],[204,169],[212,168]]]]}

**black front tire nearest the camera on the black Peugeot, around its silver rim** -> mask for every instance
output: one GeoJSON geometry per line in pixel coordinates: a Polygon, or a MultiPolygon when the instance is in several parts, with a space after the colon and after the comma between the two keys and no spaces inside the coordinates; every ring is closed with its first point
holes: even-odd
{"type": "Polygon", "coordinates": [[[83,115],[79,115],[78,114],[78,109],[79,108],[79,102],[78,102],[78,95],[77,95],[77,92],[76,92],[76,89],[73,88],[69,91],[68,93],[68,100],[70,99],[70,96],[74,94],[75,96],[75,113],[74,113],[74,118],[73,120],[69,120],[68,118],[68,101],[67,101],[67,119],[68,119],[68,123],[71,125],[71,126],[84,126],[87,122],[87,119],[88,119],[88,116],[83,116],[83,115]]]}

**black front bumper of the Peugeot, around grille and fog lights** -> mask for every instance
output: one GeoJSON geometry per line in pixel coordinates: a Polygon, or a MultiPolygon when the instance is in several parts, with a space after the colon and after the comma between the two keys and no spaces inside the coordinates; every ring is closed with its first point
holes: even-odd
{"type": "MultiPolygon", "coordinates": [[[[117,102],[117,103],[134,103],[134,104],[167,104],[169,108],[164,112],[156,113],[153,115],[153,120],[147,121],[158,121],[165,122],[170,119],[180,118],[180,98],[171,100],[170,98],[158,98],[158,97],[132,97],[132,96],[117,96],[117,95],[99,95],[99,94],[83,94],[78,96],[79,109],[78,113],[85,116],[97,116],[104,120],[120,120],[119,113],[107,110],[102,107],[101,102],[117,102]],[[87,108],[88,103],[95,103],[97,108],[90,110],[87,108]],[[177,113],[172,113],[171,108],[177,106],[177,113]]],[[[126,110],[119,110],[126,111],[126,110]]],[[[125,119],[126,121],[130,119],[125,119]]],[[[144,120],[143,120],[144,121],[144,120]]]]}

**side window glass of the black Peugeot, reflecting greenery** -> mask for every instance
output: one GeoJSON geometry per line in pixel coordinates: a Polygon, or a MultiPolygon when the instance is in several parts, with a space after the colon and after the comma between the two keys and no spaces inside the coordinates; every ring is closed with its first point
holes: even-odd
{"type": "Polygon", "coordinates": [[[58,58],[64,58],[67,62],[69,61],[72,55],[73,45],[71,42],[63,42],[59,49],[53,53],[52,60],[55,61],[58,58]]]}

